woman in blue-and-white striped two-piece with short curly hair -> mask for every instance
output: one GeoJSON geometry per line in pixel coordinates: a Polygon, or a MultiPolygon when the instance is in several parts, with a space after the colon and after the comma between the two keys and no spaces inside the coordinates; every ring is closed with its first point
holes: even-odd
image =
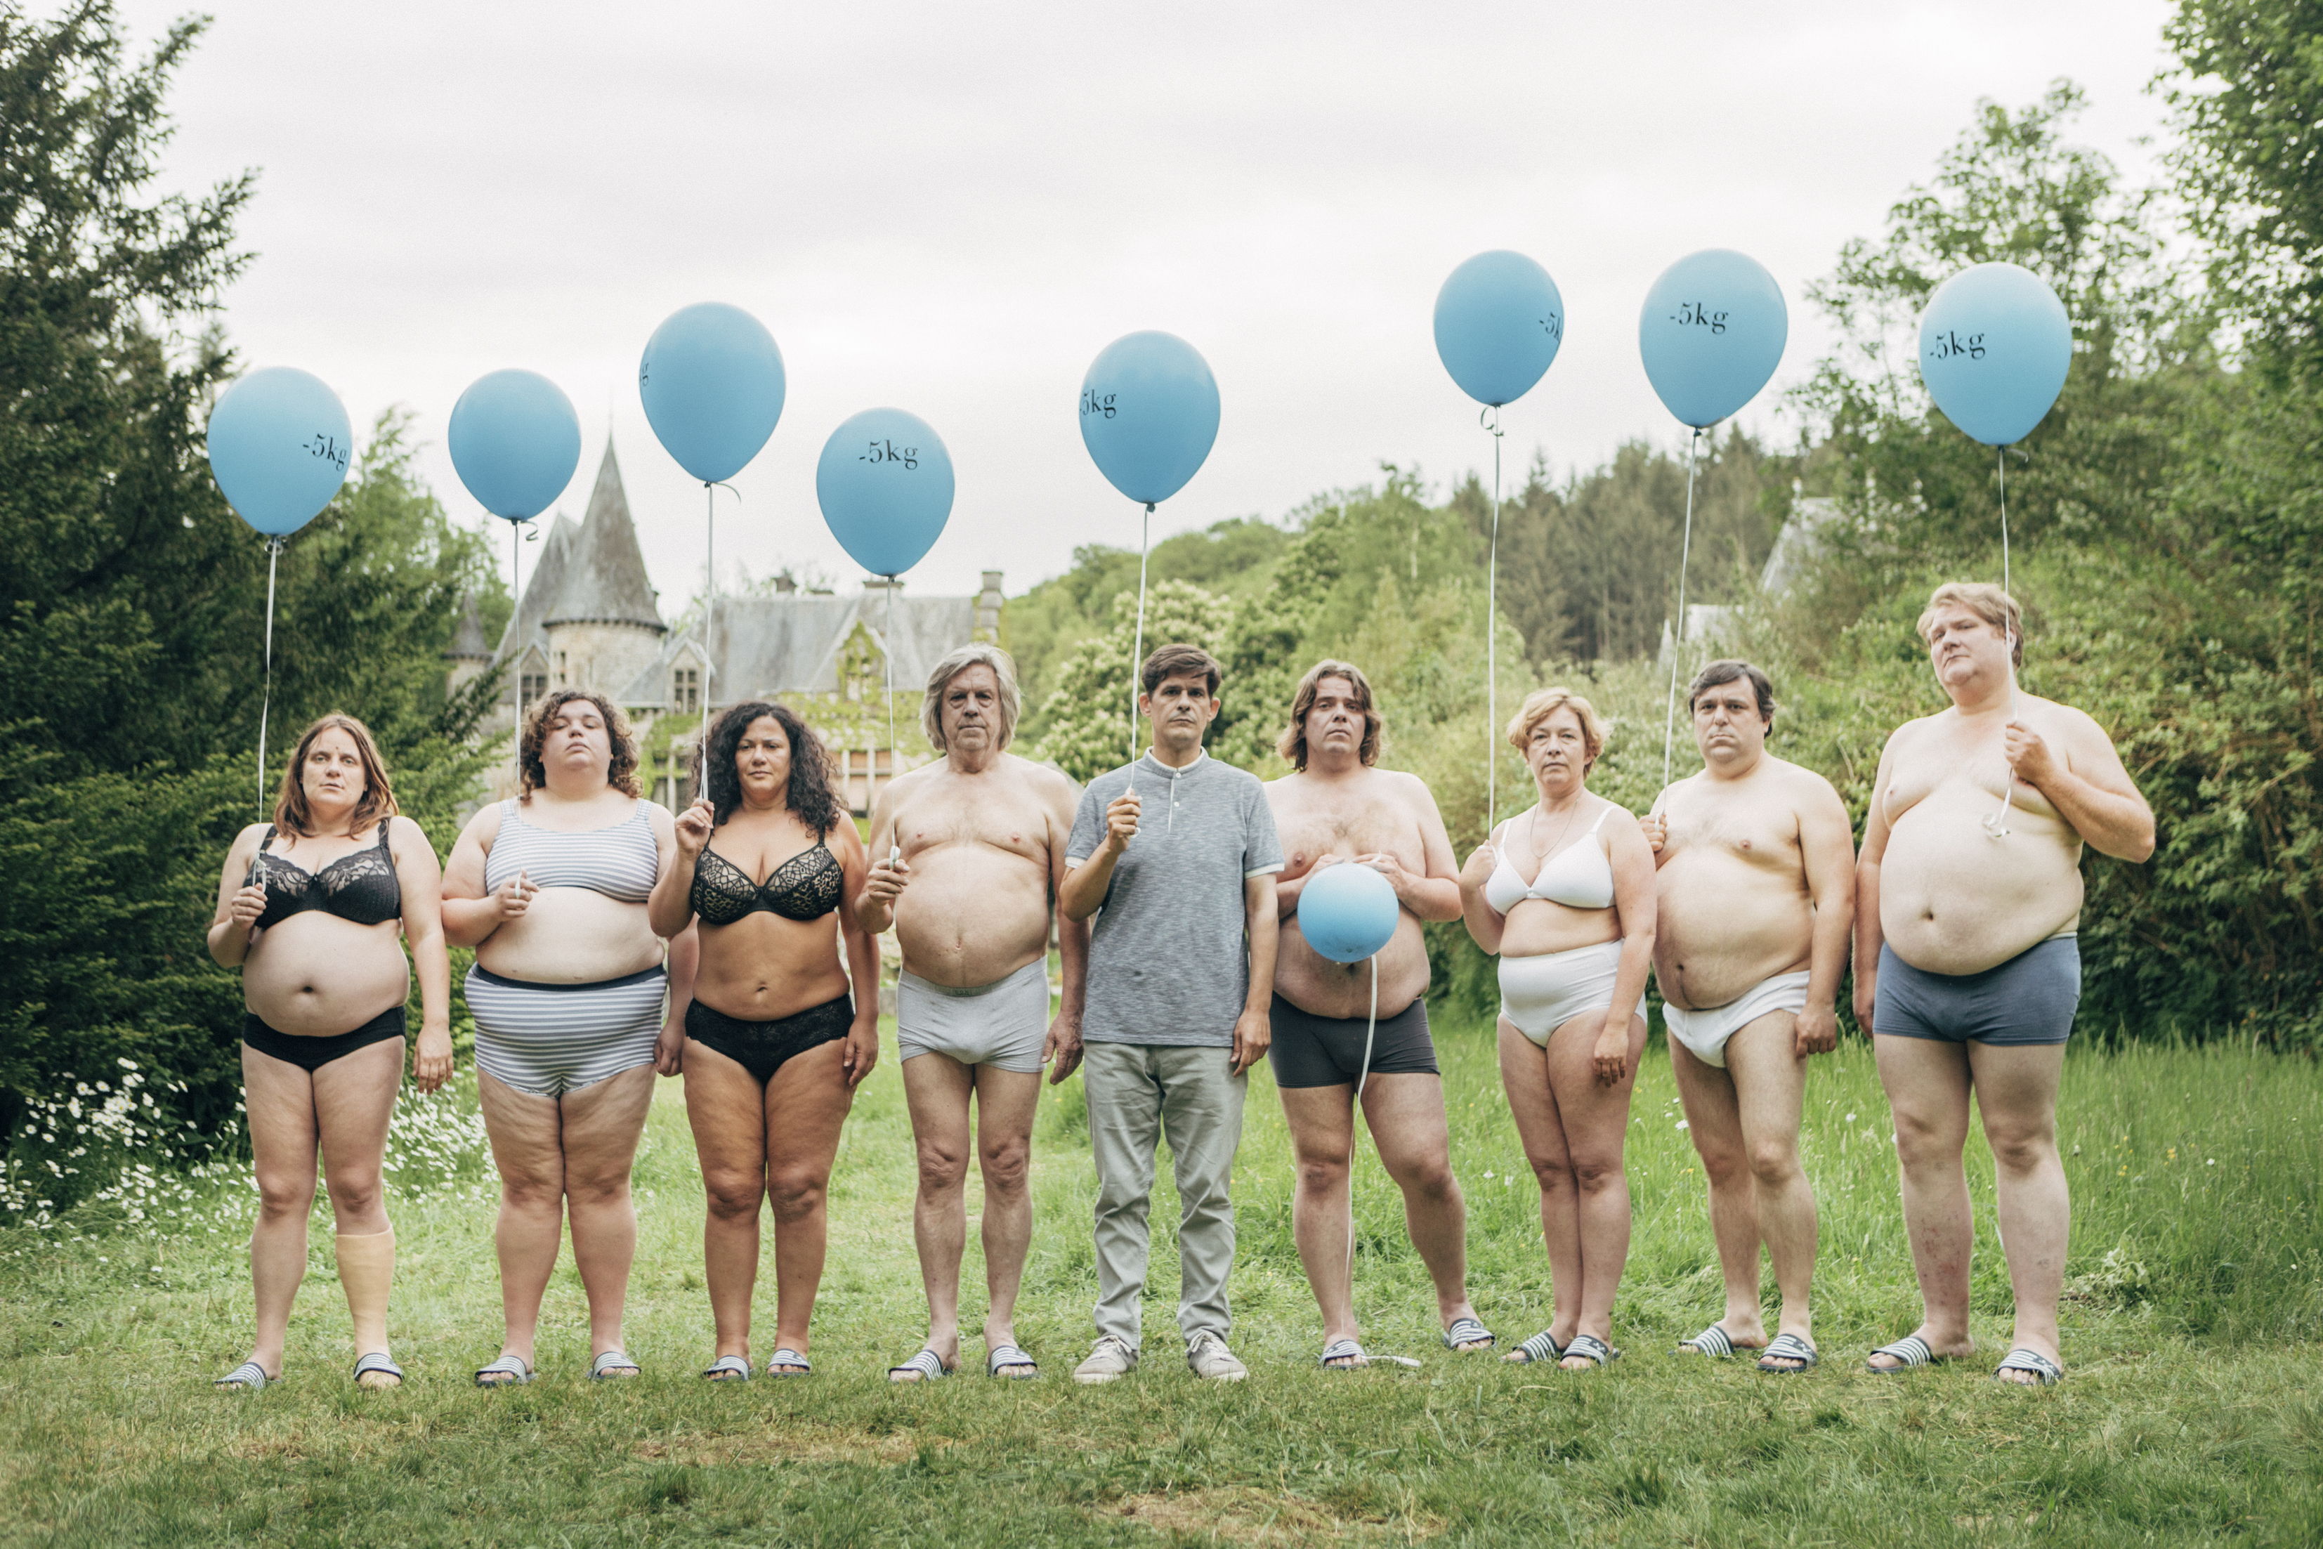
{"type": "Polygon", "coordinates": [[[676,841],[669,810],[639,799],[630,727],[597,694],[562,690],[534,706],[518,776],[523,794],[476,813],[444,871],[444,934],[476,948],[467,1006],[499,1168],[509,1328],[476,1382],[532,1379],[567,1212],[588,1291],[590,1375],[634,1377],[620,1338],[637,1254],[630,1161],[669,1006],[646,899],[676,841]]]}

